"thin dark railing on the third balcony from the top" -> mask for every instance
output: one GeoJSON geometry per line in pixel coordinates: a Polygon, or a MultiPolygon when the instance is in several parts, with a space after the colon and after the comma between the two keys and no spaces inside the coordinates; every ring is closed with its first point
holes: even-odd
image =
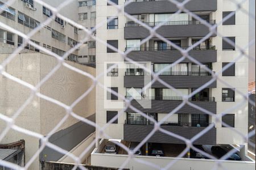
{"type": "MultiPolygon", "coordinates": [[[[189,46],[180,46],[181,49],[187,49],[189,46]]],[[[215,45],[200,45],[195,46],[193,50],[215,50],[215,45]]],[[[126,47],[125,50],[132,50],[132,51],[165,51],[165,50],[177,50],[172,46],[165,46],[165,47],[151,47],[151,46],[143,46],[143,47],[126,47]]]]}

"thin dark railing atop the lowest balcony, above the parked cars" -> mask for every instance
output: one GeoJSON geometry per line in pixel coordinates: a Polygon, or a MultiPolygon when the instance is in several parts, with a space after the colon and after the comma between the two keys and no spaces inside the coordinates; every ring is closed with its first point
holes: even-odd
{"type": "MultiPolygon", "coordinates": [[[[150,120],[126,120],[126,125],[154,125],[154,122],[150,120]]],[[[207,127],[210,123],[207,121],[199,121],[199,122],[163,122],[161,126],[178,126],[178,127],[207,127]]]]}

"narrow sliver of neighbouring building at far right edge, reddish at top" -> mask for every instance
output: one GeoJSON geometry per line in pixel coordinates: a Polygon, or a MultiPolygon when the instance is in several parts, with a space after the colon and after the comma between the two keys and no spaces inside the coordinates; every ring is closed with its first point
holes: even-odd
{"type": "MultiPolygon", "coordinates": [[[[249,92],[249,99],[254,102],[254,105],[249,103],[248,104],[248,132],[255,130],[255,82],[249,83],[248,86],[249,92]]],[[[255,134],[253,137],[250,138],[250,141],[255,144],[255,134]]],[[[255,147],[248,146],[248,150],[255,154],[255,147]]]]}

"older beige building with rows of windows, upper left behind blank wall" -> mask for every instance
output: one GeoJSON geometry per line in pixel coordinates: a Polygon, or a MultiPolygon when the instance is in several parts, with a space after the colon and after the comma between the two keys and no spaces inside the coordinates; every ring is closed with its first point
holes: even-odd
{"type": "MultiPolygon", "coordinates": [[[[11,6],[6,6],[5,2],[7,1],[0,1],[1,10],[3,10],[0,16],[1,22],[25,34],[38,27],[52,15],[51,10],[32,0],[15,1],[11,6]]],[[[62,3],[62,1],[45,2],[53,7],[57,7],[62,3]]],[[[95,26],[95,5],[95,0],[72,1],[68,6],[60,10],[60,14],[91,29],[95,26]]],[[[11,53],[23,42],[22,37],[2,28],[0,28],[0,36],[0,43],[3,47],[0,53],[11,53]]],[[[48,25],[44,25],[43,29],[32,36],[31,40],[63,56],[65,52],[81,41],[84,36],[85,33],[75,27],[75,25],[56,17],[54,21],[48,25]]],[[[81,64],[94,65],[95,48],[95,41],[86,41],[79,49],[76,49],[75,52],[70,54],[67,59],[81,64]]],[[[39,49],[31,45],[24,46],[22,52],[30,53],[33,51],[40,52],[39,49]]]]}

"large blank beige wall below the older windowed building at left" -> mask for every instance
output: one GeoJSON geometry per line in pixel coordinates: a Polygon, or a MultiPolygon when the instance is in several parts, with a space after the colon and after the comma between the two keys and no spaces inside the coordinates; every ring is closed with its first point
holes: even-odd
{"type": "MultiPolygon", "coordinates": [[[[0,54],[0,63],[9,54],[0,54]]],[[[92,67],[69,62],[70,65],[86,71],[95,76],[95,69],[92,67]]],[[[56,59],[42,53],[22,53],[18,54],[13,61],[6,66],[5,71],[16,78],[22,79],[35,86],[42,78],[56,65],[56,59]]],[[[47,80],[40,88],[39,92],[64,104],[71,105],[80,95],[82,95],[90,85],[92,80],[61,66],[53,76],[47,80]]],[[[6,116],[13,114],[21,107],[30,95],[28,88],[13,82],[0,75],[0,113],[6,116]]],[[[95,88],[88,96],[78,103],[73,112],[82,117],[88,117],[95,113],[95,88]]],[[[35,97],[24,111],[16,118],[15,125],[46,135],[63,118],[65,111],[56,104],[35,97]]],[[[75,124],[79,120],[69,117],[58,129],[65,129],[75,124]]],[[[0,134],[6,127],[3,120],[0,120],[0,134]]],[[[24,139],[26,142],[26,162],[38,150],[39,139],[29,137],[26,134],[10,130],[0,143],[11,143],[24,139]]],[[[39,169],[38,158],[33,162],[30,169],[39,169]]]]}

